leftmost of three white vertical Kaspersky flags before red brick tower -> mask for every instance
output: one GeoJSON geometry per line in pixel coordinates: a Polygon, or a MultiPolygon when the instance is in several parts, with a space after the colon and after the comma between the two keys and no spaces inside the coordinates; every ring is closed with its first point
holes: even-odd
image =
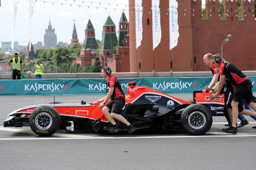
{"type": "Polygon", "coordinates": [[[135,0],[136,49],[142,41],[142,0],[135,0]]]}

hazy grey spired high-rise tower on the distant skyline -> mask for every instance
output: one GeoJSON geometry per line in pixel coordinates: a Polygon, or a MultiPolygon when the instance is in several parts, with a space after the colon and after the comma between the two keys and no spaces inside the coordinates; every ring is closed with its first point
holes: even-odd
{"type": "Polygon", "coordinates": [[[55,34],[55,28],[51,28],[51,21],[49,22],[48,29],[45,28],[44,34],[44,48],[49,49],[57,45],[57,35],[55,34]]]}

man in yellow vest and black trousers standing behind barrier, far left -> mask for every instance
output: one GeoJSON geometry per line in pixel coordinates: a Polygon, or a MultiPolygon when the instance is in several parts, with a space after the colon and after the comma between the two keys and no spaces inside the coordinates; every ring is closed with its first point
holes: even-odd
{"type": "Polygon", "coordinates": [[[17,79],[20,80],[20,72],[22,72],[22,60],[18,58],[18,53],[15,52],[14,56],[15,57],[9,60],[7,64],[13,68],[13,80],[16,80],[16,76],[17,79]],[[13,63],[13,65],[10,63],[13,63]]]}

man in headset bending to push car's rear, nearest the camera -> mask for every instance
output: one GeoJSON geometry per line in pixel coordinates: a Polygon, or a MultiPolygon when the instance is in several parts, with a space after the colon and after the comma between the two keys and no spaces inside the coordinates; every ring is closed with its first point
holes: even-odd
{"type": "MultiPolygon", "coordinates": [[[[238,104],[242,102],[242,99],[245,99],[247,103],[249,103],[249,107],[253,110],[256,110],[256,104],[254,103],[255,98],[252,93],[252,83],[247,76],[243,74],[241,70],[239,70],[234,64],[229,62],[223,62],[222,58],[219,54],[211,57],[212,63],[216,68],[219,68],[220,81],[219,86],[216,90],[216,93],[212,94],[210,97],[213,100],[216,98],[220,91],[222,90],[222,86],[225,83],[225,79],[229,80],[234,88],[234,95],[231,102],[232,107],[232,125],[226,129],[222,129],[222,131],[226,133],[237,133],[237,117],[238,117],[238,104]]],[[[249,110],[245,110],[242,114],[248,116],[256,116],[256,113],[251,112],[249,110]]]]}

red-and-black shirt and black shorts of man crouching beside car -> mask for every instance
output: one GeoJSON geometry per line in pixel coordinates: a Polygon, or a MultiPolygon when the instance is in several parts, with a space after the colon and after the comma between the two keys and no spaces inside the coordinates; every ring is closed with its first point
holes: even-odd
{"type": "Polygon", "coordinates": [[[125,94],[119,83],[118,79],[112,75],[108,77],[107,80],[107,93],[109,92],[109,88],[114,87],[113,94],[111,96],[110,102],[106,105],[109,108],[110,113],[119,114],[122,111],[122,108],[125,105],[125,94]]]}

